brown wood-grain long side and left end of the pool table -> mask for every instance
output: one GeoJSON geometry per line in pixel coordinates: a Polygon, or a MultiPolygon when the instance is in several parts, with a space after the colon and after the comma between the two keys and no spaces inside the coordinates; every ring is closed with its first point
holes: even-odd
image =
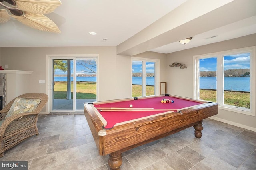
{"type": "Polygon", "coordinates": [[[85,111],[84,114],[100,155],[110,154],[118,150],[124,152],[135,146],[184,130],[198,124],[202,119],[218,114],[217,103],[203,103],[181,110],[182,114],[172,112],[118,125],[106,130],[106,135],[99,136],[98,132],[102,130],[101,127],[104,124],[100,121],[95,110],[90,109],[90,107],[89,109],[86,108],[87,112],[85,111]]]}

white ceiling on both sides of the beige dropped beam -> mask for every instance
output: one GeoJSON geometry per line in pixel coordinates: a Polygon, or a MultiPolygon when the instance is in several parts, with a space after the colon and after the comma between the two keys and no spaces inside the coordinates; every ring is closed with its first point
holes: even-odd
{"type": "MultiPolygon", "coordinates": [[[[61,6],[46,14],[59,27],[60,34],[35,30],[11,19],[0,25],[0,47],[117,46],[186,1],[193,0],[61,0],[61,6]]],[[[150,51],[170,53],[254,33],[256,16],[251,16],[192,35],[185,46],[177,41],[150,51]]]]}

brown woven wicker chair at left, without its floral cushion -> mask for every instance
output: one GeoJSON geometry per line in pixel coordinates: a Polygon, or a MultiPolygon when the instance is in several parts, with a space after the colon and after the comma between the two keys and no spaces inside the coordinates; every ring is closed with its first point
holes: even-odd
{"type": "Polygon", "coordinates": [[[18,97],[26,99],[41,99],[41,101],[34,111],[30,113],[18,113],[6,118],[5,120],[4,118],[16,98],[10,101],[10,103],[0,111],[0,121],[4,120],[0,126],[0,157],[4,156],[4,152],[6,150],[19,144],[26,138],[33,136],[34,134],[39,134],[36,126],[38,114],[44,105],[46,105],[48,96],[44,93],[26,93],[18,97]]]}

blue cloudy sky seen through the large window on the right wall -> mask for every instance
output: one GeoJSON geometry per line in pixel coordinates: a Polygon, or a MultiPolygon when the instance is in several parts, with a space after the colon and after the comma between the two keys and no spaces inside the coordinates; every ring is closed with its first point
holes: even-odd
{"type": "MultiPolygon", "coordinates": [[[[217,58],[200,59],[200,71],[216,71],[217,58]]],[[[228,69],[249,69],[250,53],[224,56],[224,70],[228,69]]]]}

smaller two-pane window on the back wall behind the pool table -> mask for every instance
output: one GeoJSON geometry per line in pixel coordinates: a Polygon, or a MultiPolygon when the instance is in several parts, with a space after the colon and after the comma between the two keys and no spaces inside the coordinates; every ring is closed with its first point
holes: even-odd
{"type": "Polygon", "coordinates": [[[159,60],[132,57],[132,97],[159,94],[159,60]]]}

